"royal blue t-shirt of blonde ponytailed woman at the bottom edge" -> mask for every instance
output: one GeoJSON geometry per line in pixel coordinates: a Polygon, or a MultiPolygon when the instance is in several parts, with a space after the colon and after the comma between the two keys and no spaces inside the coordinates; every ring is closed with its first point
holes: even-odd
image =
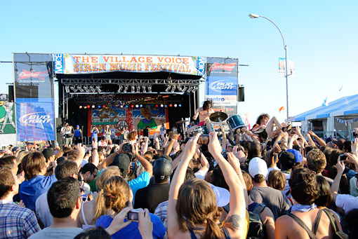
{"type": "MultiPolygon", "coordinates": [[[[95,226],[102,226],[102,228],[107,228],[112,223],[113,219],[110,216],[102,216],[100,217],[96,222],[95,226]]],[[[127,219],[124,219],[124,221],[127,221],[127,219]]],[[[164,235],[166,234],[166,228],[156,215],[150,213],[150,221],[153,223],[153,238],[164,238],[164,235]]],[[[131,224],[126,226],[125,228],[117,231],[117,233],[114,233],[112,235],[112,238],[131,238],[131,239],[141,239],[142,236],[140,235],[139,229],[138,229],[138,222],[133,221],[131,224]]]]}

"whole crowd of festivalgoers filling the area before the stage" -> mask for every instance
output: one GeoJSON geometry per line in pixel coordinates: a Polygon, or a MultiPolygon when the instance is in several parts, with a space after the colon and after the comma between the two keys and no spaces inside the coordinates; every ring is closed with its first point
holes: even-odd
{"type": "Polygon", "coordinates": [[[267,114],[218,135],[211,111],[182,137],[1,151],[0,238],[356,238],[358,138],[267,114]]]}

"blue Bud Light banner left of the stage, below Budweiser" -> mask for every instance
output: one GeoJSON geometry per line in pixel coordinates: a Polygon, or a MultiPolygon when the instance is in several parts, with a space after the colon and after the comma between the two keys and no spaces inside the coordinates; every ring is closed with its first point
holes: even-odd
{"type": "Polygon", "coordinates": [[[18,141],[55,140],[53,98],[16,98],[18,141]]]}

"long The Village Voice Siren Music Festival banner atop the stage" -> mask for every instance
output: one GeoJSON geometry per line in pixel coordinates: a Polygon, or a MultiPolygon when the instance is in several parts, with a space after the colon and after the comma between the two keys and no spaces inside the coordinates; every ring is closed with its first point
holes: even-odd
{"type": "Polygon", "coordinates": [[[164,55],[53,54],[55,74],[93,74],[110,71],[157,72],[205,76],[205,57],[164,55]]]}

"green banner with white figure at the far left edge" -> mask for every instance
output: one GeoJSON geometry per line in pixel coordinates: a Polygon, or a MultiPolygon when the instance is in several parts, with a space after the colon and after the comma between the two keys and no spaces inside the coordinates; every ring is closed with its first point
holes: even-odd
{"type": "Polygon", "coordinates": [[[8,95],[0,94],[0,135],[15,134],[15,114],[13,102],[8,101],[8,95]]]}

